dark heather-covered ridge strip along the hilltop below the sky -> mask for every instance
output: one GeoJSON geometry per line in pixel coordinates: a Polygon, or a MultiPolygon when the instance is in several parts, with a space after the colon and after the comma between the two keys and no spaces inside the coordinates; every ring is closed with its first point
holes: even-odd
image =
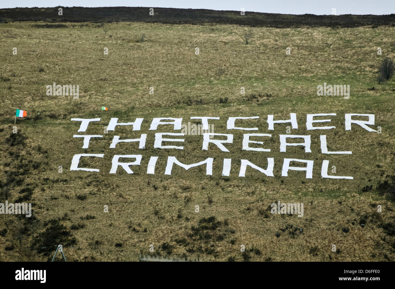
{"type": "Polygon", "coordinates": [[[58,7],[0,9],[1,22],[45,21],[45,22],[149,22],[166,24],[235,24],[257,27],[359,27],[380,25],[395,26],[395,14],[390,15],[290,15],[275,13],[216,11],[209,9],[154,8],[150,7],[62,7],[67,13],[58,16],[58,7]]]}

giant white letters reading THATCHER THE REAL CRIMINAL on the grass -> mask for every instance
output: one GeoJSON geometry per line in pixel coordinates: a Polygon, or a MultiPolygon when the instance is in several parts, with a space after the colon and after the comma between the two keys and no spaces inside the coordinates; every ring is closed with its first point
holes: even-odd
{"type": "MultiPolygon", "coordinates": [[[[316,123],[330,123],[331,119],[314,119],[314,117],[323,117],[323,116],[337,116],[335,113],[330,114],[307,114],[306,116],[306,129],[307,131],[310,130],[330,130],[335,129],[335,126],[317,126],[314,125],[316,123]]],[[[227,148],[228,145],[233,144],[233,134],[231,133],[232,130],[242,130],[248,131],[248,133],[243,134],[242,140],[242,150],[243,151],[251,151],[251,153],[257,152],[270,152],[271,149],[265,148],[264,140],[269,140],[273,138],[272,134],[268,133],[258,133],[258,127],[236,127],[236,121],[243,121],[246,124],[248,123],[248,119],[258,119],[259,116],[252,116],[252,117],[228,117],[227,120],[227,131],[229,133],[213,133],[213,132],[203,132],[202,133],[202,145],[201,149],[209,151],[211,147],[217,147],[222,152],[224,152],[224,159],[223,162],[220,162],[218,166],[222,166],[222,176],[229,176],[230,169],[232,165],[232,159],[226,158],[226,153],[229,153],[229,149],[227,148]],[[250,133],[249,131],[254,131],[254,133],[250,133]],[[262,141],[252,141],[250,138],[252,137],[259,137],[262,141]],[[250,144],[258,144],[261,147],[250,147],[250,144]]],[[[209,121],[218,121],[220,117],[190,117],[190,119],[199,119],[201,120],[201,128],[203,131],[207,131],[209,129],[209,121]]],[[[100,118],[94,119],[84,119],[84,118],[72,118],[71,121],[80,121],[80,127],[78,132],[85,132],[88,128],[88,125],[94,121],[100,121],[100,118]]],[[[141,124],[143,123],[143,118],[136,118],[133,122],[128,123],[119,123],[118,118],[111,118],[109,124],[107,126],[107,131],[115,131],[117,126],[131,126],[133,131],[140,131],[141,124]]],[[[273,115],[267,116],[267,130],[274,131],[275,124],[278,123],[290,123],[292,129],[298,129],[298,123],[296,119],[296,114],[291,113],[290,119],[286,120],[274,120],[273,115]]],[[[368,132],[376,132],[369,126],[374,125],[374,114],[345,114],[344,115],[344,129],[345,131],[351,131],[352,125],[358,125],[365,129],[368,132]],[[367,120],[357,120],[355,117],[365,117],[367,120]]],[[[173,117],[155,117],[150,122],[149,131],[155,131],[154,136],[154,144],[153,147],[156,149],[164,149],[169,151],[169,156],[167,157],[167,164],[165,168],[165,175],[171,175],[173,166],[176,164],[188,170],[189,168],[193,168],[196,166],[205,165],[206,167],[206,175],[213,175],[213,164],[214,158],[208,157],[200,162],[194,164],[184,164],[180,162],[176,157],[171,156],[172,150],[184,150],[183,143],[185,143],[185,128],[182,129],[182,118],[173,118],[173,117]],[[160,129],[161,125],[173,125],[174,131],[180,132],[156,132],[160,129]],[[176,137],[176,138],[175,138],[176,137]],[[169,145],[168,143],[171,142],[173,145],[169,145]],[[167,143],[167,144],[166,144],[167,143]],[[176,144],[175,144],[176,143],[176,144]]],[[[92,139],[97,140],[97,138],[103,138],[103,135],[98,134],[75,134],[73,135],[74,138],[82,138],[82,148],[86,149],[89,147],[90,142],[92,139]]],[[[299,134],[279,134],[280,139],[280,152],[286,152],[288,146],[296,146],[300,145],[304,148],[305,153],[311,153],[310,145],[311,145],[311,136],[310,135],[299,135],[299,134]],[[292,139],[299,140],[299,142],[291,142],[292,139]]],[[[113,140],[109,145],[109,149],[115,149],[117,145],[123,142],[137,142],[138,149],[144,150],[146,147],[146,140],[147,134],[141,134],[139,138],[134,139],[120,139],[120,136],[113,136],[113,140]]],[[[352,151],[329,151],[327,147],[327,136],[326,134],[320,135],[320,147],[321,153],[324,155],[331,155],[331,154],[343,154],[343,155],[350,155],[352,151]]],[[[79,161],[81,157],[98,157],[103,158],[103,153],[98,154],[75,154],[71,160],[71,171],[87,171],[87,172],[100,172],[98,168],[80,168],[79,161]]],[[[134,155],[114,155],[111,162],[111,170],[109,173],[117,173],[119,170],[124,170],[129,174],[132,174],[133,171],[130,166],[140,166],[141,159],[143,158],[142,154],[134,154],[134,155]],[[120,161],[121,159],[122,162],[120,161]],[[124,162],[125,159],[132,159],[131,162],[124,162]]],[[[151,156],[147,165],[147,174],[155,174],[156,162],[159,157],[151,156]]],[[[218,161],[217,161],[218,162],[218,161]]],[[[245,177],[247,167],[251,167],[259,172],[265,174],[268,177],[274,177],[273,174],[273,167],[274,167],[274,158],[267,157],[267,166],[266,168],[261,168],[256,164],[253,164],[247,159],[240,160],[240,170],[239,170],[239,177],[245,177]]],[[[281,176],[287,177],[288,172],[290,170],[294,171],[305,171],[306,172],[306,179],[312,179],[312,171],[313,171],[313,164],[314,160],[305,160],[305,159],[297,159],[297,158],[284,158],[281,176]],[[291,166],[291,162],[300,163],[300,166],[291,166]]],[[[353,179],[350,176],[337,176],[337,175],[328,175],[328,167],[329,167],[329,160],[323,160],[321,165],[321,177],[322,178],[329,178],[329,179],[353,179]]]]}

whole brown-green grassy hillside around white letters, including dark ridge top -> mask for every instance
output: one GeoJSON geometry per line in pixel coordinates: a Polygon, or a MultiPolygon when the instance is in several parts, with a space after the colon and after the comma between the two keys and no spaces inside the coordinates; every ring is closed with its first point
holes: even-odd
{"type": "Polygon", "coordinates": [[[151,20],[141,16],[148,9],[141,7],[73,7],[72,16],[67,9],[62,20],[56,8],[0,9],[7,22],[0,24],[0,202],[32,203],[30,218],[0,215],[0,261],[51,261],[57,244],[63,244],[68,261],[137,261],[140,255],[394,261],[395,83],[376,81],[382,60],[395,58],[394,15],[343,15],[334,21],[332,16],[246,13],[243,18],[237,11],[155,8],[151,20]],[[248,45],[247,28],[240,25],[256,26],[249,28],[248,45]],[[47,95],[54,82],[79,85],[79,98],[47,95]],[[324,83],[349,85],[350,98],[317,95],[324,83]],[[17,117],[14,125],[16,109],[27,116],[17,117]],[[289,133],[290,123],[279,123],[268,130],[268,115],[286,120],[292,113],[297,129],[289,133]],[[330,123],[314,123],[336,128],[307,130],[307,114],[336,114],[316,117],[330,123]],[[380,126],[381,133],[355,124],[346,131],[345,114],[374,114],[369,127],[380,126]],[[149,130],[155,117],[182,117],[188,126],[199,125],[199,119],[190,119],[198,116],[220,117],[209,124],[214,133],[233,134],[233,143],[224,144],[229,152],[214,144],[202,150],[203,136],[191,134],[169,137],[184,143],[166,143],[184,145],[183,150],[154,148],[155,133],[181,132],[173,125],[149,130]],[[228,117],[256,116],[235,124],[258,131],[227,129],[228,117]],[[81,122],[73,118],[101,121],[78,132],[81,122]],[[140,131],[117,126],[107,133],[111,118],[144,120],[140,131]],[[246,133],[272,134],[251,138],[264,145],[250,145],[271,151],[243,150],[246,133]],[[73,138],[83,134],[103,137],[83,149],[83,139],[73,138]],[[144,149],[137,143],[110,148],[115,135],[141,134],[147,134],[144,149]],[[302,146],[280,152],[283,134],[311,135],[312,152],[302,146]],[[352,154],[322,154],[320,135],[327,136],[329,150],[352,154]],[[79,163],[100,172],[70,170],[73,156],[82,153],[104,154],[79,163]],[[133,174],[120,166],[111,174],[114,155],[142,155],[141,165],[130,166],[133,174]],[[147,174],[151,156],[158,161],[155,173],[147,174]],[[206,175],[205,166],[175,165],[166,175],[169,156],[185,164],[214,158],[213,173],[206,175]],[[232,159],[229,176],[222,176],[224,158],[232,159]],[[239,177],[241,159],[267,168],[267,158],[274,159],[273,177],[251,167],[239,177]],[[284,158],[314,160],[312,178],[295,171],[283,177],[284,158]],[[354,179],[322,178],[323,160],[329,160],[329,174],[354,179]],[[303,217],[271,214],[271,203],[278,200],[303,203],[303,217]]]}

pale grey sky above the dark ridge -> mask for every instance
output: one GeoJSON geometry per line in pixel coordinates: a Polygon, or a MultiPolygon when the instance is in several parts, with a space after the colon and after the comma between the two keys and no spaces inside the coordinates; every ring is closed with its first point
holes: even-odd
{"type": "Polygon", "coordinates": [[[15,7],[166,7],[213,10],[235,10],[282,14],[330,15],[335,8],[341,14],[392,14],[395,0],[2,0],[0,8],[15,7]]]}

